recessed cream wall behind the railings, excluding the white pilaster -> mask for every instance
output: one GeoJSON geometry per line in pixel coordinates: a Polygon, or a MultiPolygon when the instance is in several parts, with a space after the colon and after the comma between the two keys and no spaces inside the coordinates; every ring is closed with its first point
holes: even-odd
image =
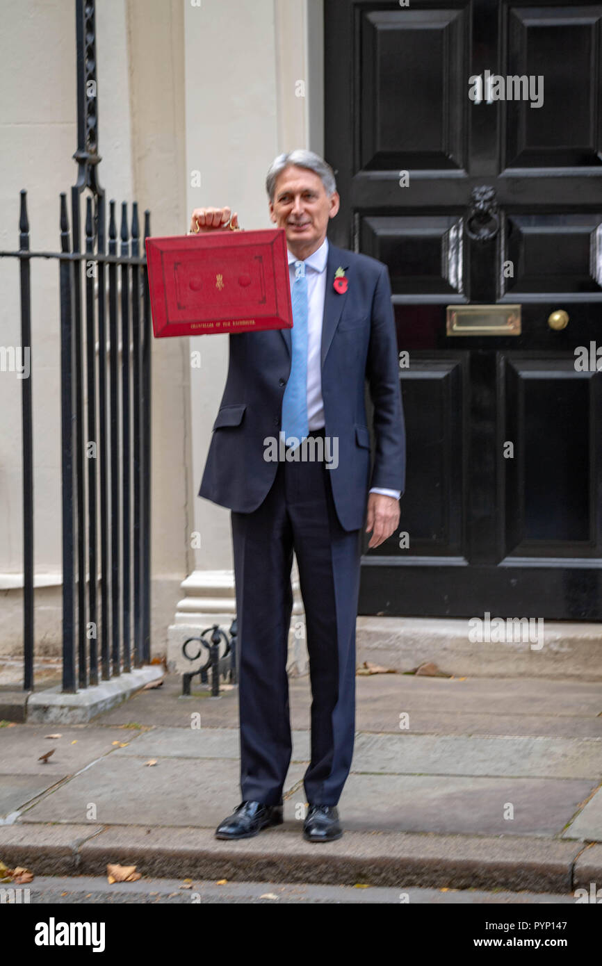
{"type": "MultiPolygon", "coordinates": [[[[97,4],[100,184],[107,199],[151,208],[153,232],[176,234],[184,196],[182,0],[97,4]]],[[[4,0],[0,33],[0,247],[18,242],[28,189],[31,247],[57,250],[59,192],[76,177],[74,4],[4,0]]],[[[130,209],[129,209],[130,211],[130,209]]],[[[0,260],[0,344],[19,345],[18,266],[0,260]]],[[[32,265],[36,648],[61,642],[61,443],[56,263],[32,265]]],[[[153,346],[153,647],[188,569],[188,385],[182,345],[153,346]],[[175,468],[175,469],[174,469],[175,468]]],[[[21,386],[0,373],[0,653],[22,644],[21,386]]]]}

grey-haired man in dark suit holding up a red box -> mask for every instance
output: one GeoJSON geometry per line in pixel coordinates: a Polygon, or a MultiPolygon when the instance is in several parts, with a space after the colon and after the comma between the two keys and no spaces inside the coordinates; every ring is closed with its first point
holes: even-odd
{"type": "MultiPolygon", "coordinates": [[[[327,240],[339,196],[326,161],[280,155],[266,186],[272,221],[286,231],[294,325],[229,335],[199,490],[231,510],[239,629],[243,802],[215,835],[249,838],[282,822],[295,551],[312,690],[303,836],[330,841],[343,834],[336,806],[354,748],[361,527],[369,547],[391,536],[405,487],[398,350],[386,266],[327,240]]],[[[224,226],[238,228],[237,213],[192,213],[191,231],[224,226]]]]}

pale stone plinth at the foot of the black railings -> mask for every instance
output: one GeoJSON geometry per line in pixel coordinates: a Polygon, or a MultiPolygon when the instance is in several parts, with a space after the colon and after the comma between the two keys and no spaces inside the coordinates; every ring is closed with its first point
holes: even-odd
{"type": "Polygon", "coordinates": [[[145,665],[73,695],[62,692],[61,685],[34,691],[27,698],[26,720],[28,724],[82,725],[164,675],[162,665],[145,665]]]}

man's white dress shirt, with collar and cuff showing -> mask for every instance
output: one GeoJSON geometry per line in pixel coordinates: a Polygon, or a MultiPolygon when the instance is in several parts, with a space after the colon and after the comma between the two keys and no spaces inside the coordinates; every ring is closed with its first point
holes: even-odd
{"type": "MultiPolygon", "coordinates": [[[[299,261],[291,251],[289,257],[289,279],[291,293],[295,283],[295,262],[299,261]]],[[[329,240],[325,239],[320,247],[308,258],[305,264],[307,278],[307,425],[311,430],[325,425],[324,400],[322,399],[322,320],[324,319],[324,298],[326,296],[326,264],[329,257],[329,240]]],[[[382,490],[372,487],[370,493],[383,493],[387,497],[399,499],[400,490],[382,490]]]]}

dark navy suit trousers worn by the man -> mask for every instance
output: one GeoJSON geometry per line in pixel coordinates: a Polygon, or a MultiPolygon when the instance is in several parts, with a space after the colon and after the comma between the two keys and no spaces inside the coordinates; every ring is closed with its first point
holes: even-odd
{"type": "Polygon", "coordinates": [[[336,805],[351,767],[361,530],[340,526],[330,471],[317,461],[279,462],[261,505],[252,513],[231,511],[241,790],[244,799],[267,805],[281,800],[292,752],[286,662],[293,550],[312,692],[307,802],[336,805]]]}

